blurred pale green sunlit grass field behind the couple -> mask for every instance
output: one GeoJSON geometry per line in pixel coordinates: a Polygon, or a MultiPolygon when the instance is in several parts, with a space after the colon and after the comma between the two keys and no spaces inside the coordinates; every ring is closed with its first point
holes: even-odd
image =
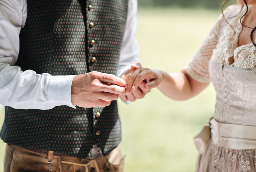
{"type": "MultiPolygon", "coordinates": [[[[180,71],[191,60],[219,13],[206,9],[139,9],[137,39],[142,65],[180,71]]],[[[157,89],[130,105],[119,100],[125,172],[194,171],[197,151],[193,136],[213,115],[215,96],[210,84],[186,101],[171,100],[157,89]]],[[[0,107],[1,112],[3,121],[0,107]]],[[[1,141],[0,146],[0,162],[3,162],[5,144],[1,141]]],[[[0,163],[0,171],[2,168],[0,163]]]]}

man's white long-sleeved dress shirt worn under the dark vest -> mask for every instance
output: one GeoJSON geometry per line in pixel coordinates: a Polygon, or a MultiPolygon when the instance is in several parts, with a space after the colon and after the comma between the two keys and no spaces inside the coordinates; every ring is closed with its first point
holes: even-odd
{"type": "MultiPolygon", "coordinates": [[[[52,109],[71,103],[71,84],[75,75],[52,76],[22,71],[14,66],[19,54],[19,33],[27,17],[26,0],[0,0],[0,104],[16,109],[52,109]]],[[[117,76],[138,59],[135,39],[137,0],[129,0],[125,34],[121,46],[117,76]]]]}

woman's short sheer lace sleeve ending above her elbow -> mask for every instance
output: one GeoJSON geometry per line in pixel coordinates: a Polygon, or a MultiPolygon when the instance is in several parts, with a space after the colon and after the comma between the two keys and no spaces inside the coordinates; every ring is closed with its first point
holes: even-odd
{"type": "Polygon", "coordinates": [[[212,56],[212,51],[219,40],[222,21],[223,15],[221,14],[210,33],[195,53],[193,59],[185,67],[187,74],[198,82],[210,83],[208,63],[212,56]]]}

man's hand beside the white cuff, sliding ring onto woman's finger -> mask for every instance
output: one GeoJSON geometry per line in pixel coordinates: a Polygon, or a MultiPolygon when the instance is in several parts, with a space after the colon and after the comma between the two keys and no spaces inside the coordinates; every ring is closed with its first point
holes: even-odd
{"type": "Polygon", "coordinates": [[[74,77],[71,102],[80,107],[108,106],[126,94],[126,82],[112,74],[89,72],[74,77]]]}

